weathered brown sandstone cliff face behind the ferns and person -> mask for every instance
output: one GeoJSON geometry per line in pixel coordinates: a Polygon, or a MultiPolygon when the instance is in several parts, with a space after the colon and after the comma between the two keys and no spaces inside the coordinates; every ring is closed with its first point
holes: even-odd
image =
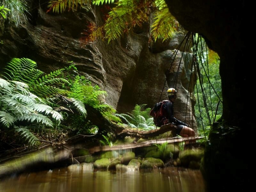
{"type": "Polygon", "coordinates": [[[80,40],[87,22],[102,22],[100,8],[56,14],[46,13],[46,4],[37,6],[31,2],[28,21],[18,27],[5,24],[1,36],[4,43],[0,45],[1,68],[14,57],[34,60],[46,73],[73,61],[81,75],[108,92],[104,100],[118,113],[130,112],[135,104],[148,104],[152,108],[157,101],[167,99],[165,92],[174,87],[177,76],[175,116],[189,124],[193,121],[196,128],[190,99],[187,102],[191,49],[183,56],[184,47],[180,48],[182,52],[176,51],[185,37],[182,32],[164,44],[148,45],[148,24],[109,44],[98,40],[83,45],[80,40]]]}

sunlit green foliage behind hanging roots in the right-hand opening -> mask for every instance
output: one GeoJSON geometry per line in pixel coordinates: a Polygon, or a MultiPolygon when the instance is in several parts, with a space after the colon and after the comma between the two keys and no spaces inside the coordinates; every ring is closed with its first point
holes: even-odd
{"type": "Polygon", "coordinates": [[[220,60],[217,53],[209,50],[200,36],[195,41],[201,49],[196,55],[198,58],[198,79],[196,83],[195,116],[198,124],[199,136],[208,138],[212,122],[221,118],[222,94],[219,75],[220,60]]]}

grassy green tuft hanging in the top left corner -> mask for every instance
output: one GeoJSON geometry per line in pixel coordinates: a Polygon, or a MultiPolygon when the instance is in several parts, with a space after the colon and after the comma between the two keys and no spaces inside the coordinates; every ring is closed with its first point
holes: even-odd
{"type": "MultiPolygon", "coordinates": [[[[5,16],[18,26],[23,19],[27,19],[28,5],[25,0],[0,0],[0,5],[5,7],[5,16]]],[[[3,11],[3,9],[2,9],[3,11]]],[[[1,13],[1,10],[0,10],[1,13]]],[[[3,16],[3,14],[1,14],[3,16]]]]}

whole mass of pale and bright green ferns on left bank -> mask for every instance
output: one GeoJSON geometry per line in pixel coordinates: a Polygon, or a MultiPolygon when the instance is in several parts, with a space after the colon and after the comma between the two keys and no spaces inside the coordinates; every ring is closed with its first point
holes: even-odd
{"type": "Polygon", "coordinates": [[[100,96],[107,93],[97,85],[92,86],[84,76],[77,75],[75,65],[71,64],[48,75],[36,67],[35,61],[14,58],[4,68],[3,78],[0,78],[2,131],[8,130],[8,134],[15,132],[13,136],[20,135],[19,138],[31,147],[38,144],[34,130],[38,132],[39,129],[53,127],[57,130],[61,127],[73,134],[95,133],[97,128],[86,119],[84,104],[98,108],[109,119],[121,122],[114,115],[116,111],[113,107],[99,100],[100,96]],[[60,102],[60,94],[63,94],[63,102],[60,102]],[[65,104],[64,107],[61,104],[65,104]],[[71,108],[75,108],[79,115],[54,110],[71,108]]]}

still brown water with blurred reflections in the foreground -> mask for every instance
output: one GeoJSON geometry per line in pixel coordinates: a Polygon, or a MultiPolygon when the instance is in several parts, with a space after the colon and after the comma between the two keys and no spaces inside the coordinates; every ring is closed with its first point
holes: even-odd
{"type": "Polygon", "coordinates": [[[0,192],[205,192],[199,170],[69,171],[61,168],[0,180],[0,192]]]}

